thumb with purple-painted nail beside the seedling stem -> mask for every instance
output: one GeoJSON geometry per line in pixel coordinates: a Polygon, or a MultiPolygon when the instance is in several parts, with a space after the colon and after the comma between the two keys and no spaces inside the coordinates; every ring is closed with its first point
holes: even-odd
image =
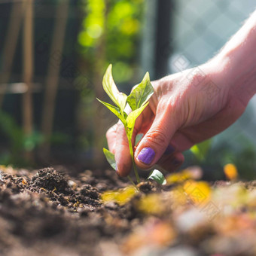
{"type": "Polygon", "coordinates": [[[151,128],[136,148],[135,161],[139,168],[150,168],[166,151],[176,130],[175,122],[169,120],[169,116],[169,114],[156,114],[151,128]]]}

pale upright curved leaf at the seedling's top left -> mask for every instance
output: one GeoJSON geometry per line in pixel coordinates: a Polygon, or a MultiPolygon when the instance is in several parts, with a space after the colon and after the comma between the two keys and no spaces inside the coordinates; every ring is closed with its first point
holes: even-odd
{"type": "Polygon", "coordinates": [[[108,94],[112,102],[114,102],[114,104],[117,105],[121,111],[123,111],[126,105],[127,96],[125,93],[120,93],[116,84],[114,84],[112,65],[108,66],[108,69],[103,77],[102,84],[105,92],[108,94]]]}

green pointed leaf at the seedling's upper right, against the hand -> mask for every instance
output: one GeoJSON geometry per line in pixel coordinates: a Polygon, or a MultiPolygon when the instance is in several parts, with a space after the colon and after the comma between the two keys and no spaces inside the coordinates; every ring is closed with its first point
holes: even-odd
{"type": "Polygon", "coordinates": [[[140,108],[142,105],[145,105],[153,93],[154,88],[151,85],[149,74],[147,72],[142,82],[127,97],[127,102],[134,111],[137,108],[140,108]]]}

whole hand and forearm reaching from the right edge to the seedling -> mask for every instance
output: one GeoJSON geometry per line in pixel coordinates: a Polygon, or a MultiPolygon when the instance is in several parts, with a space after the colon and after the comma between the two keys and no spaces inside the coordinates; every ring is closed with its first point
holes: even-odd
{"type": "MultiPolygon", "coordinates": [[[[135,151],[136,164],[155,163],[172,171],[181,154],[225,130],[245,110],[256,93],[256,11],[214,59],[202,66],[152,82],[154,95],[136,120],[133,136],[145,136],[135,151]]],[[[129,174],[132,160],[122,123],[107,133],[117,172],[129,174]]]]}

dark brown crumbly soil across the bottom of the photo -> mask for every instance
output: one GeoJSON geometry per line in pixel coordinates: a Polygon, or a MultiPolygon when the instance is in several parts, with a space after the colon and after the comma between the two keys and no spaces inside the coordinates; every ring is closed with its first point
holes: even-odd
{"type": "MultiPolygon", "coordinates": [[[[213,187],[220,184],[221,187],[230,186],[227,182],[219,182],[213,187]]],[[[256,254],[253,246],[256,233],[252,232],[256,230],[256,222],[254,218],[248,221],[244,217],[248,206],[236,209],[235,216],[245,218],[239,224],[241,227],[236,227],[238,219],[233,216],[230,226],[221,224],[225,228],[220,233],[214,221],[198,221],[195,213],[198,209],[188,201],[181,203],[182,208],[172,204],[169,193],[173,186],[142,182],[138,185],[139,193],[122,206],[101,200],[105,190],[127,185],[130,183],[126,179],[109,170],[87,170],[72,176],[62,167],[34,172],[3,167],[0,171],[0,254],[256,254]],[[148,195],[160,196],[163,209],[152,212],[152,201],[148,212],[143,212],[138,203],[143,198],[150,198],[148,195]],[[251,225],[251,233],[245,236],[240,231],[248,225],[251,225]]],[[[240,185],[253,191],[256,182],[240,185]]],[[[229,220],[230,217],[223,217],[223,221],[229,220]]]]}

